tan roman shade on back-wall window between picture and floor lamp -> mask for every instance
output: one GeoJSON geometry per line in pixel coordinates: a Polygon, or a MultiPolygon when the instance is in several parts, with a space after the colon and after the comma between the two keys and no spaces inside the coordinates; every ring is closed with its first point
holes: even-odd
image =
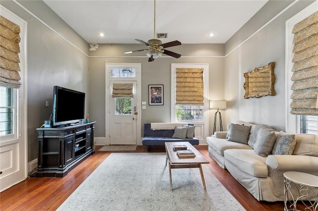
{"type": "Polygon", "coordinates": [[[176,68],[176,104],[204,105],[203,68],[176,68]]]}

